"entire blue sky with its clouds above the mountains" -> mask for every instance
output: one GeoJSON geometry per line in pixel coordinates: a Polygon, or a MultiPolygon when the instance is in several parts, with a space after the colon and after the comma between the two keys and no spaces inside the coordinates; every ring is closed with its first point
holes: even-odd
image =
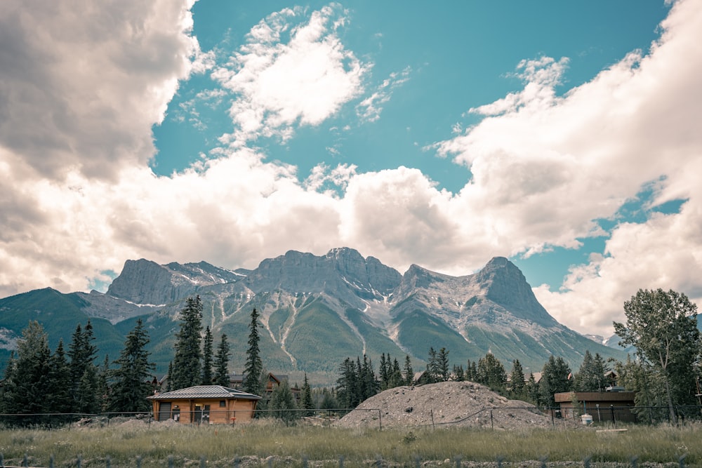
{"type": "Polygon", "coordinates": [[[607,337],[702,303],[698,0],[8,0],[0,297],[126,260],[505,256],[607,337]]]}

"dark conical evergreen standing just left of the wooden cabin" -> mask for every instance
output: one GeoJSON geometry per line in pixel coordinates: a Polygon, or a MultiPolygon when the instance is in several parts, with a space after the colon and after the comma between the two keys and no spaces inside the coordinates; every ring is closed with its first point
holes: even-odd
{"type": "Polygon", "coordinates": [[[112,411],[149,410],[150,403],[146,397],[153,391],[149,380],[150,370],[156,367],[149,361],[150,353],[146,350],[149,341],[149,333],[138,319],[135,328],[126,336],[119,359],[114,361],[117,368],[112,372],[112,411]]]}

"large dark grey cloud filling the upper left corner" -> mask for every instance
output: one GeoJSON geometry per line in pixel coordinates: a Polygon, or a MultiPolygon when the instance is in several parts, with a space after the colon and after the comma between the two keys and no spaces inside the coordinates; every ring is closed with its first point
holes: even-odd
{"type": "Polygon", "coordinates": [[[145,163],[197,51],[191,3],[4,2],[0,145],[48,177],[145,163]]]}

